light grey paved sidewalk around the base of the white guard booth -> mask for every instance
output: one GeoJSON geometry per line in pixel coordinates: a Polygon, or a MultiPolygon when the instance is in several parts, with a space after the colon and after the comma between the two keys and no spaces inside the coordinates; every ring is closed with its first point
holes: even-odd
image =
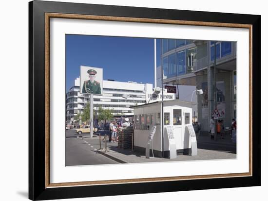
{"type": "MultiPolygon", "coordinates": [[[[217,150],[208,150],[208,149],[200,149],[198,148],[198,155],[178,155],[176,159],[167,159],[167,158],[153,158],[147,159],[145,157],[145,153],[141,153],[138,151],[134,151],[131,149],[122,149],[117,148],[117,142],[109,142],[109,138],[107,137],[107,151],[105,152],[105,141],[103,141],[103,136],[101,136],[101,149],[99,149],[99,137],[94,138],[82,138],[85,141],[92,144],[96,149],[97,153],[102,154],[114,161],[120,163],[140,163],[140,162],[167,162],[167,161],[196,161],[196,160],[219,160],[219,159],[236,159],[236,154],[222,152],[217,150]]],[[[198,143],[209,143],[209,144],[228,144],[229,139],[219,139],[218,141],[212,141],[210,136],[201,136],[198,140],[198,143]]],[[[197,145],[198,147],[198,145],[197,145]]]]}

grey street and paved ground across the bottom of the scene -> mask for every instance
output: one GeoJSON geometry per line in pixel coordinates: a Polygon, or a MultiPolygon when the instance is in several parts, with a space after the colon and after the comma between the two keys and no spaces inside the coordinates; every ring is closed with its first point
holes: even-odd
{"type": "MultiPolygon", "coordinates": [[[[105,132],[98,132],[101,135],[101,148],[105,147],[103,136],[105,132]]],[[[115,164],[120,161],[116,161],[115,158],[108,158],[105,154],[97,152],[99,147],[99,136],[95,133],[93,138],[89,138],[89,134],[78,135],[75,130],[66,131],[66,166],[70,165],[96,165],[96,164],[115,164]],[[114,160],[113,160],[114,159],[114,160]]],[[[228,136],[226,136],[228,138],[228,136]]],[[[128,150],[117,150],[117,143],[111,143],[108,141],[109,146],[108,155],[115,155],[117,158],[124,159],[128,162],[146,162],[142,157],[130,157],[130,153],[125,153],[128,150]],[[114,147],[114,148],[113,148],[114,147]],[[113,152],[116,149],[117,151],[113,152]],[[123,154],[120,152],[124,152],[123,154]],[[109,154],[110,153],[110,154],[109,154]],[[121,154],[121,155],[120,155],[121,154]]],[[[213,159],[235,159],[236,158],[236,146],[230,143],[229,139],[224,141],[219,139],[213,141],[210,137],[200,137],[197,141],[198,156],[178,156],[175,161],[189,161],[189,160],[213,160],[213,159]]],[[[103,151],[100,150],[100,151],[103,151]]],[[[165,159],[155,158],[154,160],[165,161],[165,159]]],[[[150,160],[153,161],[153,160],[150,160]]],[[[172,161],[172,160],[168,160],[172,161]]]]}

